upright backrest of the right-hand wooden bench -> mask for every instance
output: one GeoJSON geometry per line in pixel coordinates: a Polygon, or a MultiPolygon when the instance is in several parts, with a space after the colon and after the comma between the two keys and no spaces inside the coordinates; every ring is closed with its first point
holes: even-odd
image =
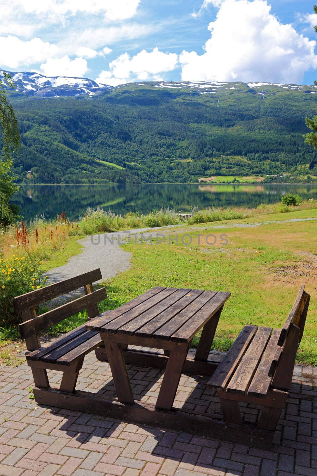
{"type": "Polygon", "coordinates": [[[303,337],[310,296],[305,285],[299,289],[297,298],[289,313],[277,341],[276,354],[269,376],[273,377],[271,387],[288,391],[292,383],[296,353],[303,337]]]}

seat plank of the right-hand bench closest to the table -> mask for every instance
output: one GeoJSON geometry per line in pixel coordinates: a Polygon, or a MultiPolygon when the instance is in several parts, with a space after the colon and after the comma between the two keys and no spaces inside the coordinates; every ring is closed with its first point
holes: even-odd
{"type": "Polygon", "coordinates": [[[222,359],[214,375],[209,379],[208,388],[221,388],[225,390],[227,383],[231,379],[236,367],[239,365],[245,350],[249,347],[257,326],[245,326],[235,342],[230,347],[225,357],[222,359]]]}

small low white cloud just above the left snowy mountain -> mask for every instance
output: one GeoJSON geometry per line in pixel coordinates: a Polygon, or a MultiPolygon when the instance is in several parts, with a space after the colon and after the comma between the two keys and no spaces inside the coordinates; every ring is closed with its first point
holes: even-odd
{"type": "Polygon", "coordinates": [[[48,58],[41,64],[45,76],[71,76],[81,78],[87,71],[87,61],[83,58],[71,60],[68,56],[48,58]]]}

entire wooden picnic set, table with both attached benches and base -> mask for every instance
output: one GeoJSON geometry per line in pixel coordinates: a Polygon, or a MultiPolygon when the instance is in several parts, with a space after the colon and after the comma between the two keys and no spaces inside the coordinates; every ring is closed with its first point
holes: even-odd
{"type": "MultiPolygon", "coordinates": [[[[305,286],[300,287],[281,329],[247,325],[225,357],[215,361],[209,351],[230,293],[155,287],[100,314],[98,303],[107,293],[104,288],[94,289],[92,283],[101,278],[100,269],[95,269],[13,299],[15,311],[22,314],[19,330],[32,369],[35,401],[269,448],[289,395],[304,332],[310,299],[305,286]],[[42,303],[82,287],[84,296],[37,316],[42,303]],[[86,325],[41,346],[43,330],[83,309],[88,315],[86,325]],[[200,329],[193,358],[188,350],[200,329]],[[84,357],[92,351],[97,359],[109,362],[117,399],[102,392],[76,389],[84,357]],[[155,404],[134,401],[126,363],[165,370],[155,404]],[[59,388],[51,387],[47,370],[62,372],[59,388]],[[209,407],[197,406],[193,412],[187,406],[173,406],[182,373],[194,374],[198,379],[210,377],[207,389],[217,393],[223,417],[211,413],[209,407]],[[240,410],[245,405],[262,408],[256,425],[243,421],[240,410]]],[[[208,399],[208,395],[205,397],[208,399]]]]}

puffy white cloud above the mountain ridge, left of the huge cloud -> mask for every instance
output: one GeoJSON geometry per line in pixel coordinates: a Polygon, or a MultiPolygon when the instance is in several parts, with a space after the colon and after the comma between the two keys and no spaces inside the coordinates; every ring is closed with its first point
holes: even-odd
{"type": "Polygon", "coordinates": [[[177,66],[176,53],[163,53],[158,48],[148,53],[140,51],[132,58],[124,53],[109,64],[109,71],[102,71],[96,79],[100,84],[123,84],[132,81],[158,81],[161,73],[172,71],[177,66]]]}

